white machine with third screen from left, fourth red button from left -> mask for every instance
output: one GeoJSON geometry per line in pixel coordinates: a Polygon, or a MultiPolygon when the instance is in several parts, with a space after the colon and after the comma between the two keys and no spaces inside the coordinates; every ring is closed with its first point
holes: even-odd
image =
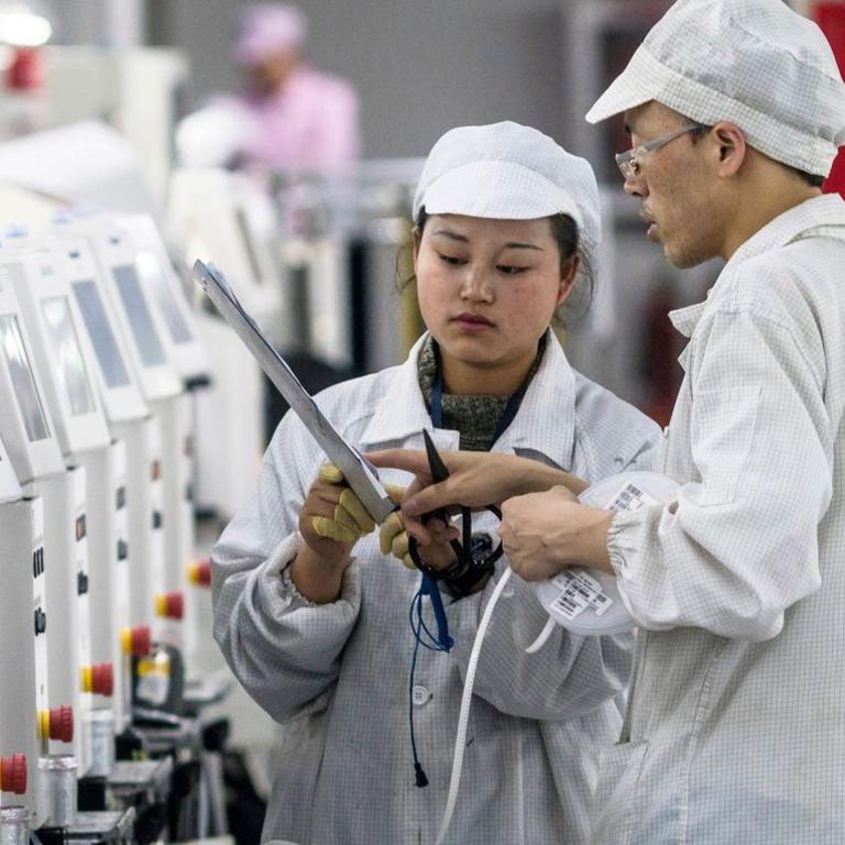
{"type": "MultiPolygon", "coordinates": [[[[108,582],[102,583],[110,596],[102,606],[112,616],[103,621],[106,626],[123,626],[120,647],[112,644],[112,660],[125,663],[130,655],[150,651],[153,590],[147,577],[149,561],[152,550],[163,545],[162,529],[156,527],[154,516],[163,506],[160,425],[133,380],[123,338],[113,328],[111,305],[100,293],[100,271],[90,245],[83,238],[62,235],[53,240],[52,249],[69,282],[94,351],[92,376],[112,437],[124,447],[118,447],[112,456],[116,474],[125,475],[125,487],[118,489],[113,503],[117,560],[109,569],[108,582]]],[[[121,692],[125,701],[127,691],[121,692]]],[[[116,716],[120,731],[128,713],[116,716]]]]}

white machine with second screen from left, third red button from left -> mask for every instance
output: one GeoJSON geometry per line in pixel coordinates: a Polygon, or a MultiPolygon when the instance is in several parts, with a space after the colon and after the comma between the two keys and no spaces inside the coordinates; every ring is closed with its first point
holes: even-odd
{"type": "MultiPolygon", "coordinates": [[[[121,566],[118,546],[121,538],[125,539],[125,530],[121,534],[118,525],[120,491],[125,489],[125,457],[122,442],[112,441],[109,434],[92,378],[94,352],[58,256],[48,250],[22,246],[18,259],[8,266],[58,443],[68,464],[85,469],[87,513],[77,533],[85,535],[88,542],[88,572],[78,574],[76,583],[70,582],[73,575],[67,572],[61,579],[48,578],[47,591],[48,599],[55,589],[59,595],[74,591],[78,595],[75,612],[57,619],[52,633],[67,639],[72,649],[78,645],[79,659],[51,667],[51,676],[55,679],[57,673],[67,674],[77,685],[75,705],[83,728],[79,771],[86,773],[92,764],[91,723],[102,722],[99,711],[111,709],[116,676],[120,722],[129,687],[128,679],[121,677],[122,661],[116,660],[121,616],[112,613],[113,608],[122,614],[122,623],[127,623],[128,595],[108,591],[116,580],[109,570],[121,566]],[[86,650],[90,662],[83,657],[86,650]],[[95,705],[97,712],[92,711],[95,705]]],[[[103,767],[98,764],[96,768],[101,771],[103,767]]]]}

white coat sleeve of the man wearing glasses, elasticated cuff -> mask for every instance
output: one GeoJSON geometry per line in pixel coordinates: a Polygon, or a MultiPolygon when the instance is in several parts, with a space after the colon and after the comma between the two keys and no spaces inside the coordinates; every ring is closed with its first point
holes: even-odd
{"type": "Polygon", "coordinates": [[[617,514],[607,547],[646,628],[765,640],[821,582],[817,524],[832,495],[824,360],[788,319],[723,307],[707,320],[684,382],[689,430],[671,432],[689,438],[700,480],[671,505],[617,514]]]}

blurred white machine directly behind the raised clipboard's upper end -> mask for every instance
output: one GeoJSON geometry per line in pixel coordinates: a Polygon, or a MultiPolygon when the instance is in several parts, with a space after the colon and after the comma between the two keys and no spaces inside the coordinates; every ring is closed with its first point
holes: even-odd
{"type": "MultiPolygon", "coordinates": [[[[295,326],[286,305],[272,204],[246,177],[218,169],[176,171],[168,224],[188,266],[201,257],[238,284],[241,301],[270,338],[284,345],[295,326]]],[[[255,361],[209,312],[197,315],[213,384],[197,397],[200,508],[228,519],[250,494],[264,451],[264,382],[255,361]],[[223,448],[221,448],[221,445],[223,448]]]]}

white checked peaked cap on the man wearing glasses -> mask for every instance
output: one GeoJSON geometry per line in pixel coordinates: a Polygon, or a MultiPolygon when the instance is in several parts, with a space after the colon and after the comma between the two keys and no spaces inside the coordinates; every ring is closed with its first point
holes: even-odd
{"type": "Polygon", "coordinates": [[[736,123],[778,162],[826,176],[845,144],[845,84],[831,45],[782,0],[678,0],[586,114],[657,100],[736,123]]]}

